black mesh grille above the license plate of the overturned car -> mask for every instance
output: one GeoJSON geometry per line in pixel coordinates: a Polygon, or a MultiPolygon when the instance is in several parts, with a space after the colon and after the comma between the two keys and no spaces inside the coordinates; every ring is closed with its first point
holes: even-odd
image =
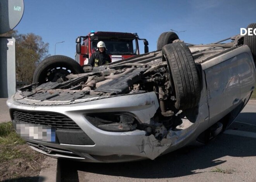
{"type": "Polygon", "coordinates": [[[22,110],[11,110],[12,120],[16,122],[26,122],[50,126],[56,129],[76,129],[81,128],[69,117],[54,112],[30,112],[22,110]]]}

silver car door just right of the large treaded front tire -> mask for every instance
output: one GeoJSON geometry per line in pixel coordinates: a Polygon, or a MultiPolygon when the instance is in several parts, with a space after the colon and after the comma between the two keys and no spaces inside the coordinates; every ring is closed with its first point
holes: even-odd
{"type": "Polygon", "coordinates": [[[207,84],[209,126],[231,112],[240,99],[239,58],[225,60],[204,70],[207,84]]]}

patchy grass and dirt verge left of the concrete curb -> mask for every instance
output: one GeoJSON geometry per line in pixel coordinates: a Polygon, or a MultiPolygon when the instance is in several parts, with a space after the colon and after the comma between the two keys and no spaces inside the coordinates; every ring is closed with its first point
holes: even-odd
{"type": "Polygon", "coordinates": [[[36,181],[45,156],[21,139],[12,122],[0,123],[0,181],[36,181]]]}

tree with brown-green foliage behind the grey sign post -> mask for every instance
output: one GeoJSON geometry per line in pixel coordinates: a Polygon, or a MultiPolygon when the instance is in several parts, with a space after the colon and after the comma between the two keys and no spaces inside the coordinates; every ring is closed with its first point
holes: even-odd
{"type": "Polygon", "coordinates": [[[32,83],[36,66],[48,54],[48,43],[44,43],[41,36],[33,33],[18,34],[12,30],[0,36],[10,36],[16,39],[16,80],[32,83]]]}

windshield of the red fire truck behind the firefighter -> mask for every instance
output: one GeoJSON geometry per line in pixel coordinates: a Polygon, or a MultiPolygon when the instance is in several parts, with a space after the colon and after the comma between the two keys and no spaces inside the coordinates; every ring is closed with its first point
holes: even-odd
{"type": "Polygon", "coordinates": [[[106,53],[109,55],[137,55],[137,46],[135,39],[103,39],[91,41],[91,53],[97,50],[97,43],[103,41],[106,44],[106,53]]]}

